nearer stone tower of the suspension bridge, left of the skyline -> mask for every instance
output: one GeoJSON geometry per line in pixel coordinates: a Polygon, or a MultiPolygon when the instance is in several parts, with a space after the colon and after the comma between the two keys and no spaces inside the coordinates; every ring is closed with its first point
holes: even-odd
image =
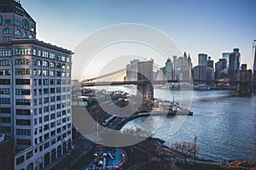
{"type": "Polygon", "coordinates": [[[143,99],[154,99],[153,64],[154,59],[137,62],[137,81],[147,81],[145,84],[137,85],[137,90],[143,94],[143,99]]]}

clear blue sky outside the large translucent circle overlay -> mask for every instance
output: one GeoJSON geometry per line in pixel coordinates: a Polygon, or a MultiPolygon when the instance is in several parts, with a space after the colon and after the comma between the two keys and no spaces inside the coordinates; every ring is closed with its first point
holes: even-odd
{"type": "Polygon", "coordinates": [[[193,65],[199,53],[216,62],[223,52],[240,48],[241,63],[252,68],[255,0],[21,0],[21,4],[37,22],[37,38],[63,48],[74,50],[102,27],[137,23],[171,37],[181,52],[190,54],[193,65]]]}

